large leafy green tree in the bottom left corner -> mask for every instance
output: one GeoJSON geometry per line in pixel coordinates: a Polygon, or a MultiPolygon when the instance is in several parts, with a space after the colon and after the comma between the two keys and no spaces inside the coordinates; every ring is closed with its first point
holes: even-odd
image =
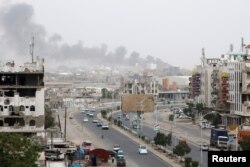
{"type": "Polygon", "coordinates": [[[1,167],[36,167],[39,145],[15,133],[0,133],[1,167]]]}

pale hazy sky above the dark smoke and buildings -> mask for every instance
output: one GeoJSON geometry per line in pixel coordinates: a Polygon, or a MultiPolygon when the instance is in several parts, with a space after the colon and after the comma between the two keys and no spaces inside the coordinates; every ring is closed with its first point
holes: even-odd
{"type": "MultiPolygon", "coordinates": [[[[86,47],[106,44],[126,53],[151,55],[181,68],[200,64],[201,48],[219,57],[241,37],[250,43],[249,0],[1,0],[25,2],[32,20],[62,42],[86,47]]],[[[126,56],[127,56],[126,55],[126,56]]]]}

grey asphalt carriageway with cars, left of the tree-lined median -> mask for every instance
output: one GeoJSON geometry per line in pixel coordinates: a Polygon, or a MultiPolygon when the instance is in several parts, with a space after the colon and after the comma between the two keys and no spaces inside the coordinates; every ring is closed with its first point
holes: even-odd
{"type": "MultiPolygon", "coordinates": [[[[81,123],[84,116],[85,114],[82,114],[80,112],[75,113],[74,115],[75,119],[81,123]]],[[[130,159],[134,163],[132,165],[134,167],[167,166],[165,162],[151,153],[148,155],[139,155],[137,151],[138,145],[131,142],[126,136],[113,130],[112,128],[110,128],[109,130],[101,130],[100,127],[97,127],[96,124],[92,123],[92,119],[89,119],[89,122],[82,123],[82,125],[85,126],[85,128],[88,129],[89,132],[96,134],[96,137],[101,138],[101,134],[103,133],[103,140],[105,140],[105,143],[107,144],[109,149],[112,149],[114,144],[120,144],[121,149],[123,149],[125,152],[125,157],[127,159],[130,159]]]]}

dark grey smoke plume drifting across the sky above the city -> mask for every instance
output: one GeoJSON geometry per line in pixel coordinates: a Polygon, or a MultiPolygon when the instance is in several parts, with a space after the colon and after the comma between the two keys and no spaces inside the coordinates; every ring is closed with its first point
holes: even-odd
{"type": "MultiPolygon", "coordinates": [[[[48,36],[45,28],[33,20],[33,7],[25,4],[5,6],[0,11],[0,54],[1,59],[20,62],[30,61],[29,44],[35,37],[34,55],[45,58],[47,67],[60,65],[68,67],[90,67],[96,65],[145,66],[156,63],[164,67],[166,63],[152,56],[141,58],[136,51],[128,53],[125,47],[119,46],[108,51],[108,46],[86,47],[82,41],[73,45],[62,43],[59,34],[48,36]]],[[[66,24],[66,23],[65,23],[66,24]]],[[[87,42],[87,41],[86,41],[87,42]]]]}

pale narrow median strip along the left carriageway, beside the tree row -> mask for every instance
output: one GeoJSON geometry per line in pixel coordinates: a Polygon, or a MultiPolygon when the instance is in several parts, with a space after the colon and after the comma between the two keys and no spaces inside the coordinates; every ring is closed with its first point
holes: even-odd
{"type": "MultiPolygon", "coordinates": [[[[114,112],[113,112],[113,114],[114,114],[114,112]]],[[[102,118],[100,113],[97,114],[97,118],[102,120],[105,123],[108,123],[108,121],[106,119],[102,118]]],[[[172,167],[181,167],[181,164],[179,163],[179,159],[176,159],[174,157],[167,157],[167,153],[160,153],[155,148],[153,148],[153,146],[151,144],[145,144],[145,142],[142,141],[141,139],[139,139],[137,136],[135,136],[132,133],[129,133],[128,131],[126,131],[125,129],[122,129],[121,127],[118,127],[116,125],[112,125],[112,128],[119,131],[123,135],[127,136],[131,141],[133,141],[134,143],[136,143],[138,145],[139,144],[147,145],[147,148],[151,153],[153,153],[155,156],[157,156],[158,158],[165,161],[168,165],[170,165],[172,167]]]]}

